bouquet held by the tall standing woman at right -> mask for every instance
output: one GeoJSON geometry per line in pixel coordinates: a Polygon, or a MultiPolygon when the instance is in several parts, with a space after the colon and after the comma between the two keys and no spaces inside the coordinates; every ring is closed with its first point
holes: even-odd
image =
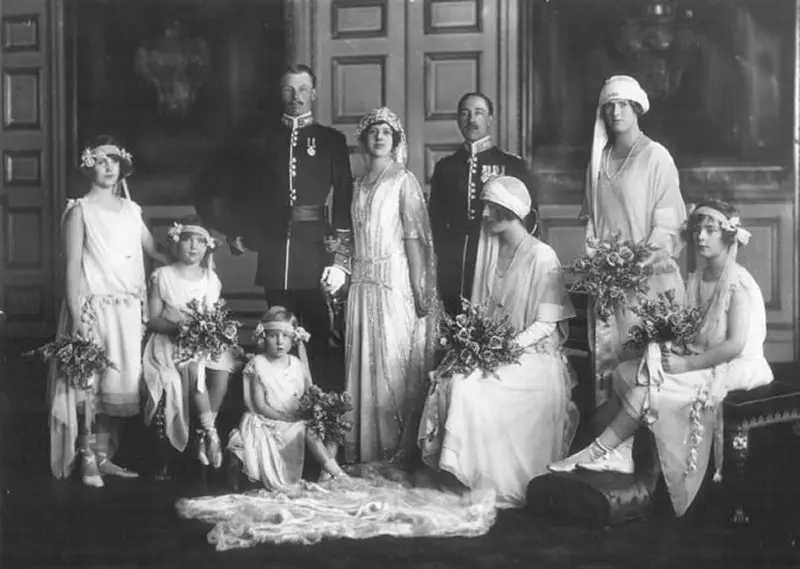
{"type": "Polygon", "coordinates": [[[647,293],[647,280],[653,269],[642,263],[658,248],[644,242],[622,241],[617,232],[608,241],[590,238],[586,243],[594,253],[583,255],[564,268],[567,273],[578,275],[568,288],[591,296],[597,315],[606,320],[628,295],[647,293]]]}

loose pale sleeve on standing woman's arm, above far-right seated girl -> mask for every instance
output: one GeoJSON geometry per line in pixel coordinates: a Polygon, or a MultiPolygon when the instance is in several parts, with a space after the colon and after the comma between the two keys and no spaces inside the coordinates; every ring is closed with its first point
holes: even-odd
{"type": "Polygon", "coordinates": [[[674,258],[683,247],[680,229],[686,220],[686,205],[681,195],[675,162],[660,145],[653,153],[651,182],[655,198],[648,242],[663,248],[666,254],[674,258]]]}

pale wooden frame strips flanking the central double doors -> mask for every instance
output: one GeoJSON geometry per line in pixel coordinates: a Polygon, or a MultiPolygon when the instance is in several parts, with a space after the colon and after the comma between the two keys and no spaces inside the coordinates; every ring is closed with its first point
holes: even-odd
{"type": "MultiPolygon", "coordinates": [[[[405,0],[403,2],[405,3],[405,0]]],[[[523,148],[520,130],[522,91],[519,81],[519,2],[520,0],[497,0],[496,16],[500,41],[495,122],[498,145],[509,152],[521,155],[523,148]]],[[[315,69],[317,9],[316,0],[283,0],[288,62],[305,63],[315,69]]]]}

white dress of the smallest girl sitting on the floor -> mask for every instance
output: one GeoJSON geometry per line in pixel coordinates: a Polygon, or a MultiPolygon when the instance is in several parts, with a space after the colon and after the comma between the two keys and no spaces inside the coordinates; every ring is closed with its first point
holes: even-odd
{"type": "Polygon", "coordinates": [[[228,449],[242,461],[242,471],[250,480],[261,480],[269,490],[296,484],[303,474],[306,448],[306,425],[268,419],[256,410],[251,397],[253,382],[264,388],[267,405],[284,413],[294,413],[311,372],[295,356],[281,369],[264,356],[256,356],[244,368],[244,403],[238,429],[231,431],[228,449]]]}

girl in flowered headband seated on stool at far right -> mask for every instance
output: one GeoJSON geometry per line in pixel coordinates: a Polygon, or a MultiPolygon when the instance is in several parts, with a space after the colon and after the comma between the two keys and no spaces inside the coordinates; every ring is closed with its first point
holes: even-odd
{"type": "Polygon", "coordinates": [[[550,470],[632,472],[631,459],[615,451],[629,445],[644,422],[655,435],[675,513],[686,512],[708,466],[715,424],[716,434],[721,434],[719,403],[728,391],[752,389],[773,379],[764,358],[764,298],[750,273],[736,262],[739,244],[750,239],[739,224],[738,211],[725,202],[709,200],[692,212],[687,233],[705,261],[686,285],[687,304],[702,311],[695,345],[689,355],[661,354],[660,362],[646,356],[617,367],[617,397],[601,409],[613,417],[608,428],[585,449],[551,464],[550,470]]]}

